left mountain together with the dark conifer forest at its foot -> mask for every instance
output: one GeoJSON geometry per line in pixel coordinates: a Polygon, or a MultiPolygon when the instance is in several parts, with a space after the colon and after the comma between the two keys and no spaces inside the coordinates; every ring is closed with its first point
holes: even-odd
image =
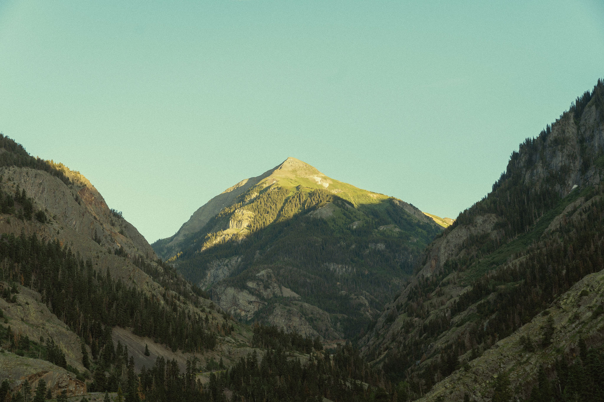
{"type": "Polygon", "coordinates": [[[2,134],[0,322],[0,402],[387,395],[350,344],[235,321],[83,175],[2,134]]]}

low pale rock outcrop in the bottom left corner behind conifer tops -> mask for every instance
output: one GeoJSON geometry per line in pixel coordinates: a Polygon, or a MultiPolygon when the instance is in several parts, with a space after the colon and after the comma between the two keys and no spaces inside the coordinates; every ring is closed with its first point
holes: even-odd
{"type": "Polygon", "coordinates": [[[0,353],[0,380],[8,379],[14,384],[14,391],[21,389],[25,379],[36,389],[37,382],[46,383],[53,395],[66,390],[68,396],[86,394],[86,383],[78,380],[75,374],[55,366],[46,360],[28,359],[13,353],[0,353]]]}

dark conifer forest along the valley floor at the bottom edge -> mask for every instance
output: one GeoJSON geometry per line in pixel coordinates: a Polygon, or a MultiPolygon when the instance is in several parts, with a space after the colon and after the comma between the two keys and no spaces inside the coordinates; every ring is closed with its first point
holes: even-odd
{"type": "MultiPolygon", "coordinates": [[[[334,402],[396,400],[396,391],[384,382],[381,372],[372,369],[350,344],[324,350],[318,339],[313,341],[260,325],[254,327],[253,344],[264,345],[268,350],[248,354],[228,369],[222,359],[216,365],[211,364],[212,359],[208,360],[205,369],[212,371],[210,382],[202,385],[197,375],[203,368],[196,357],[188,359],[185,371],[181,372],[175,360],[158,356],[152,367],[143,366],[137,374],[128,348],[119,341],[114,347],[109,333],[98,358],[88,364],[92,371],[92,377],[86,377],[91,380],[88,391],[118,392],[126,402],[306,402],[321,401],[323,397],[334,402]],[[296,352],[306,354],[309,360],[301,362],[296,352]]],[[[11,394],[13,385],[4,380],[0,402],[24,397],[28,401],[37,400],[39,395],[45,395],[46,399],[65,398],[64,392],[47,393],[43,380],[38,383],[35,397],[29,383],[11,394]]]]}

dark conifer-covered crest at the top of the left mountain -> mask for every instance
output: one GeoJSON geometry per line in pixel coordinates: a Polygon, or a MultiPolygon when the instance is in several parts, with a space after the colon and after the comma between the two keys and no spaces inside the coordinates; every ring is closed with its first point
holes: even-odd
{"type": "Polygon", "coordinates": [[[17,166],[18,168],[37,169],[58,177],[65,184],[71,183],[65,175],[65,166],[62,163],[49,162],[48,160],[33,157],[25,151],[25,148],[21,144],[4,136],[2,133],[0,133],[0,151],[0,167],[17,166]]]}

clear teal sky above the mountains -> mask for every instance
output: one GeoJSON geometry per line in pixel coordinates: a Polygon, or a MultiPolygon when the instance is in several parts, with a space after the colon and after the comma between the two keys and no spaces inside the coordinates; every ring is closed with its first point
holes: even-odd
{"type": "Polygon", "coordinates": [[[601,77],[600,0],[0,0],[0,131],[149,242],[288,156],[455,218],[601,77]]]}

